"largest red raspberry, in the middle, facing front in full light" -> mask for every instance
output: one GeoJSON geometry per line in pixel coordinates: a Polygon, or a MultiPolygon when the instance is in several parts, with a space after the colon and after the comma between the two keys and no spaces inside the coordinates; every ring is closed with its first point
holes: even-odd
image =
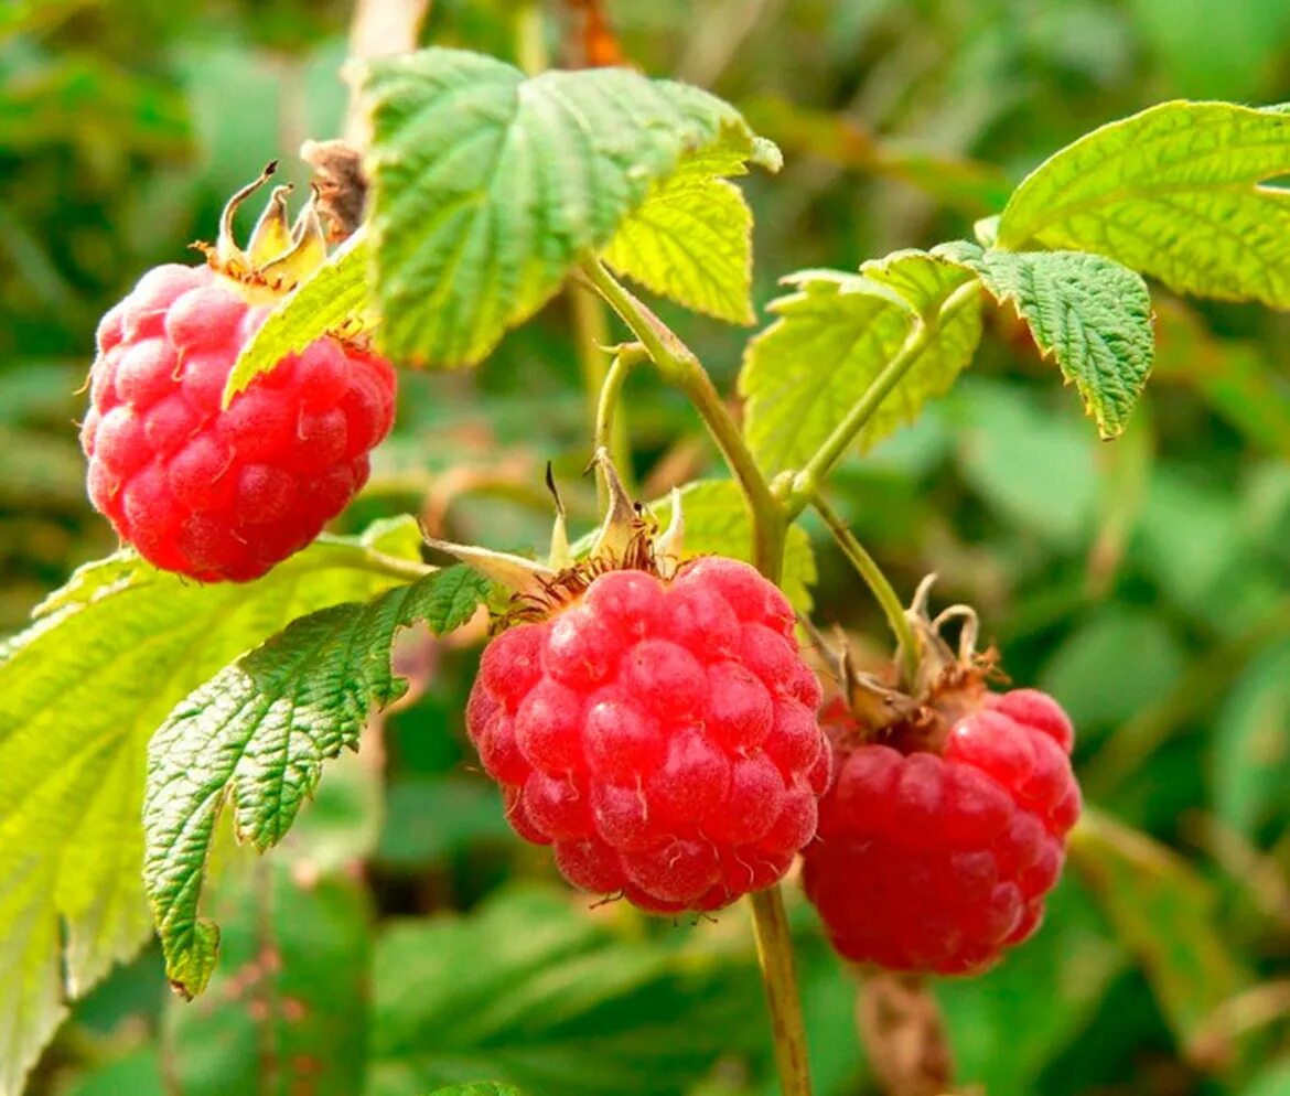
{"type": "Polygon", "coordinates": [[[831,753],[793,612],[752,567],[619,570],[484,651],[466,722],[508,817],[574,886],[651,913],[777,882],[831,753]]]}

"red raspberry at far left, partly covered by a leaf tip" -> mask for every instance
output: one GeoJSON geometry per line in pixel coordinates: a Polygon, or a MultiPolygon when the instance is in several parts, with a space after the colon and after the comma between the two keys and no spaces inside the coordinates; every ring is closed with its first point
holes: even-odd
{"type": "Polygon", "coordinates": [[[330,337],[221,410],[237,353],[267,315],[208,267],[169,264],[98,326],[81,428],[89,495],[159,567],[258,578],[344,509],[390,432],[390,364],[330,337]]]}

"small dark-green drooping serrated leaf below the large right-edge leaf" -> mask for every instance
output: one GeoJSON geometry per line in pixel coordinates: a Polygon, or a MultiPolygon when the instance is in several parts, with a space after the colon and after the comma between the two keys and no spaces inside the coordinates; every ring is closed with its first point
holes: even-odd
{"type": "Polygon", "coordinates": [[[1151,295],[1140,275],[1086,251],[946,249],[1011,304],[1078,391],[1103,438],[1120,435],[1151,373],[1151,295]]]}

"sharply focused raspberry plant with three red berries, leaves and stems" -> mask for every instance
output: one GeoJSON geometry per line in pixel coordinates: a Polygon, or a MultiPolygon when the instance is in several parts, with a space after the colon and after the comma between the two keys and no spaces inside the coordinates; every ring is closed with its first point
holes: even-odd
{"type": "MultiPolygon", "coordinates": [[[[799,850],[838,953],[875,985],[885,977],[875,967],[973,974],[1042,931],[1068,838],[1129,892],[1134,873],[1158,866],[1158,850],[1099,812],[1072,830],[1066,716],[1033,690],[991,692],[991,658],[946,658],[926,588],[907,610],[835,512],[831,482],[844,456],[955,384],[987,316],[1019,317],[1113,441],[1131,428],[1152,366],[1144,277],[1290,306],[1290,214],[1268,184],[1290,170],[1290,115],[1162,103],[1038,165],[973,240],[788,275],[748,340],[735,414],[626,285],[715,321],[756,322],[752,213],[731,181],[773,174],[782,156],[733,106],[627,68],[526,75],[442,48],[372,62],[357,79],[370,141],[337,155],[361,156],[365,201],[357,223],[332,208],[330,255],[322,200],[293,231],[281,192],[237,250],[240,195],[210,268],[144,275],[99,328],[81,435],[88,490],[126,545],[77,570],[0,649],[0,1092],[21,1091],[68,1003],[154,930],[184,997],[206,989],[222,949],[253,950],[245,906],[228,906],[223,944],[205,913],[226,887],[215,879],[205,895],[212,865],[232,855],[221,819],[259,852],[280,843],[324,770],[343,772],[334,759],[404,695],[396,637],[426,627],[477,638],[464,629],[482,607],[494,636],[461,723],[511,825],[550,843],[575,886],[677,925],[748,895],[764,1041],[784,1096],[811,1091],[779,888],[799,850]],[[387,358],[475,366],[565,288],[582,308],[599,297],[623,325],[588,393],[584,455],[609,507],[601,535],[570,545],[561,509],[544,562],[432,542],[464,561],[433,565],[410,517],[321,533],[390,431],[387,358]],[[609,454],[626,451],[631,373],[689,400],[728,478],[627,504],[609,454]],[[832,534],[890,624],[889,655],[872,665],[858,669],[827,641],[804,660],[808,526],[832,534]],[[817,714],[824,690],[832,750],[817,714]]],[[[975,631],[970,611],[953,616],[975,631]]],[[[348,892],[303,887],[266,863],[257,892],[308,891],[297,908],[325,954],[328,918],[348,892]]],[[[224,895],[245,886],[231,874],[224,895]]],[[[566,913],[498,905],[458,950],[504,958],[507,939],[566,913]]],[[[263,917],[279,914],[270,904],[263,917]]],[[[704,928],[694,927],[697,950],[704,928]]],[[[396,937],[382,962],[415,968],[419,943],[396,937]]],[[[611,993],[617,959],[602,945],[570,948],[611,993]]],[[[559,941],[542,954],[551,966],[569,958],[559,941]]],[[[311,955],[272,959],[290,984],[311,955]]],[[[445,981],[470,981],[468,963],[446,966],[445,981]]],[[[541,1008],[531,971],[498,970],[498,995],[519,985],[541,1008]]],[[[426,1016],[449,1024],[453,999],[427,993],[426,1016]]],[[[664,1011],[677,1007],[668,998],[664,1011]]],[[[566,1082],[522,1064],[515,1073],[566,1082]]],[[[373,1091],[396,1083],[383,1077],[373,1091]]]]}

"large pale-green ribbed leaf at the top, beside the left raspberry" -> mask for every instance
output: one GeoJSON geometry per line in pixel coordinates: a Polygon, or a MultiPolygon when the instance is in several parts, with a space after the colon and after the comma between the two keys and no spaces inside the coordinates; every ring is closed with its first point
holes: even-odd
{"type": "MultiPolygon", "coordinates": [[[[381,331],[388,352],[409,361],[485,357],[688,156],[716,148],[774,164],[729,104],[626,70],[526,79],[489,57],[427,49],[373,62],[362,86],[374,125],[381,331]]],[[[721,200],[702,214],[704,196],[691,190],[684,209],[708,222],[729,214],[721,200]]],[[[651,246],[663,228],[675,232],[679,209],[651,246]]],[[[628,269],[646,284],[658,273],[653,258],[628,269]]],[[[703,286],[706,300],[717,299],[703,286]]],[[[695,291],[690,280],[677,288],[695,291]]]]}

